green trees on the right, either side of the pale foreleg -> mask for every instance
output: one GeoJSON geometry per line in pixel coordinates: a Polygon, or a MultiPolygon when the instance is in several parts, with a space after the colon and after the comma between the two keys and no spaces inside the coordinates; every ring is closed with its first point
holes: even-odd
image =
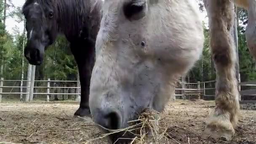
{"type": "MultiPolygon", "coordinates": [[[[202,1],[202,0],[197,0],[202,1]]],[[[200,2],[200,10],[204,11],[203,5],[200,2]]],[[[246,39],[245,28],[248,20],[248,12],[242,8],[237,9],[237,17],[239,25],[238,30],[238,51],[239,51],[239,65],[240,65],[240,77],[241,81],[256,80],[256,64],[250,54],[246,39]]],[[[201,59],[197,61],[195,67],[189,71],[189,79],[192,82],[196,81],[208,81],[216,78],[214,67],[211,66],[211,49],[209,45],[209,31],[204,28],[205,42],[203,48],[203,55],[201,59]]]]}

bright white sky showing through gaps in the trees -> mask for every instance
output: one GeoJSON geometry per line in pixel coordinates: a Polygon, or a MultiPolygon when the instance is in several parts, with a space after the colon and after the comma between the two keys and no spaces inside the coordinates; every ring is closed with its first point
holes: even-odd
{"type": "MultiPolygon", "coordinates": [[[[25,0],[12,0],[12,3],[16,7],[22,7],[22,5],[25,3],[25,0]]],[[[10,7],[7,10],[7,13],[10,12],[11,10],[13,10],[13,8],[10,7]]],[[[207,16],[206,12],[200,13],[200,18],[203,19],[203,21],[205,21],[205,23],[208,24],[208,19],[206,18],[206,16],[207,16]]],[[[9,33],[13,34],[13,32],[14,32],[13,28],[15,28],[15,27],[18,27],[19,31],[23,32],[24,24],[23,24],[23,22],[21,22],[21,23],[16,22],[15,19],[13,19],[13,18],[7,18],[6,19],[6,30],[9,33]]]]}

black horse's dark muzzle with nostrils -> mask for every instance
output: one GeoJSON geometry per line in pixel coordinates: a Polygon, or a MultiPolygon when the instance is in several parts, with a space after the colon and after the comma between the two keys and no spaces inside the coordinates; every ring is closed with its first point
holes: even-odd
{"type": "Polygon", "coordinates": [[[29,41],[24,49],[24,55],[29,64],[40,65],[43,63],[44,46],[41,43],[29,41]]]}

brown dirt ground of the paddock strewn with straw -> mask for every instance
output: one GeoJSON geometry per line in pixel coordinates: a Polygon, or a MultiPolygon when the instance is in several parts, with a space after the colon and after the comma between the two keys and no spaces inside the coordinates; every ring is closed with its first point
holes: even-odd
{"type": "MultiPolygon", "coordinates": [[[[22,144],[84,144],[102,132],[90,120],[74,118],[75,102],[0,104],[0,141],[22,144]]],[[[241,117],[232,141],[200,138],[213,101],[169,103],[159,125],[165,127],[163,144],[256,144],[256,105],[241,105],[241,117]],[[167,126],[166,126],[167,125],[167,126]]],[[[0,142],[3,144],[4,142],[0,142]]],[[[108,144],[96,139],[88,144],[108,144]]]]}

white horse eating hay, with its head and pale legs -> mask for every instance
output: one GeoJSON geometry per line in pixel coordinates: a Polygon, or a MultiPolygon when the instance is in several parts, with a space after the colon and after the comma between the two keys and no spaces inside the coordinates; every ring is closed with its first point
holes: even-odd
{"type": "MultiPolygon", "coordinates": [[[[256,1],[233,2],[249,10],[246,35],[253,52],[256,1]]],[[[205,0],[217,72],[216,109],[203,132],[205,138],[229,140],[237,124],[233,2],[205,0]]],[[[177,79],[200,58],[202,20],[195,0],[105,0],[102,10],[89,106],[96,123],[125,128],[144,108],[164,109],[177,79]]],[[[116,133],[112,138],[126,136],[116,133]]]]}

